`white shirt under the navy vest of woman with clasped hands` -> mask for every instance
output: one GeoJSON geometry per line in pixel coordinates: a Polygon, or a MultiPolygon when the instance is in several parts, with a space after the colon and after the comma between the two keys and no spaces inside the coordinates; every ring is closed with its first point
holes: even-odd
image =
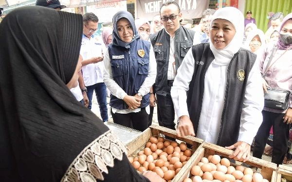
{"type": "MultiPolygon", "coordinates": [[[[127,52],[128,53],[128,52],[127,52]]],[[[104,83],[107,85],[107,88],[110,90],[110,93],[117,97],[118,99],[124,99],[124,97],[127,95],[127,93],[113,80],[112,72],[111,72],[111,66],[110,66],[110,55],[109,50],[107,49],[105,55],[104,55],[104,83]]],[[[144,81],[144,83],[141,85],[139,89],[139,93],[142,94],[142,96],[145,96],[150,92],[151,86],[155,83],[156,79],[156,59],[155,54],[153,51],[152,45],[150,46],[150,53],[149,53],[149,68],[148,68],[148,75],[144,81]]],[[[127,113],[138,113],[141,111],[140,108],[133,109],[133,110],[118,110],[115,108],[111,108],[112,112],[115,113],[121,113],[121,114],[127,114],[127,113]]],[[[149,105],[146,107],[147,114],[150,113],[149,105]]]]}

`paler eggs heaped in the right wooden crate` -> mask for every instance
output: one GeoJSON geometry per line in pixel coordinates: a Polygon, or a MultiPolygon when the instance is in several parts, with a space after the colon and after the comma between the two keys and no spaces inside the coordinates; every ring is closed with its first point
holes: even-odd
{"type": "Polygon", "coordinates": [[[201,161],[192,167],[191,173],[193,176],[183,182],[269,182],[263,179],[261,174],[254,173],[253,169],[242,165],[234,167],[228,159],[221,159],[219,155],[201,158],[201,161]]]}

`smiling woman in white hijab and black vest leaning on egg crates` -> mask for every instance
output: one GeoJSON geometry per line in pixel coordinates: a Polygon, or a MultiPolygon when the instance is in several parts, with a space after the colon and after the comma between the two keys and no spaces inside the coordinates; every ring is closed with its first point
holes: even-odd
{"type": "Polygon", "coordinates": [[[193,135],[236,150],[250,158],[250,145],[262,122],[264,97],[256,55],[241,49],[244,17],[234,7],[216,11],[210,23],[211,43],[192,47],[171,89],[179,136],[193,135]],[[228,147],[229,146],[229,147],[228,147]]]}

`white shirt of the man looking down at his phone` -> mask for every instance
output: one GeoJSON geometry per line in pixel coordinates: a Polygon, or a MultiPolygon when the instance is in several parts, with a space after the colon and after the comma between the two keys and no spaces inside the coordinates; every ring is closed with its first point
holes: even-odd
{"type": "MultiPolygon", "coordinates": [[[[92,57],[99,57],[105,52],[106,46],[100,36],[92,35],[91,39],[87,38],[84,34],[82,36],[80,54],[83,60],[92,57]]],[[[104,65],[101,62],[92,63],[82,66],[83,80],[85,86],[91,86],[96,83],[103,82],[103,69],[104,65]]]]}

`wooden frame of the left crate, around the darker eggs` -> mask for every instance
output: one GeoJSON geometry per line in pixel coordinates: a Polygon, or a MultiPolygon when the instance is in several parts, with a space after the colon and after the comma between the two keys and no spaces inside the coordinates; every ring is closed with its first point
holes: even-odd
{"type": "Polygon", "coordinates": [[[186,164],[183,165],[180,172],[178,172],[171,181],[171,182],[178,182],[178,180],[183,175],[183,172],[185,171],[185,169],[188,168],[189,165],[192,165],[192,162],[195,159],[195,157],[193,157],[193,154],[196,152],[197,149],[202,148],[203,143],[204,143],[203,140],[196,138],[194,136],[179,137],[176,135],[176,131],[174,130],[164,128],[158,125],[151,125],[147,130],[142,132],[138,137],[134,138],[132,141],[130,141],[126,145],[129,150],[128,157],[138,156],[138,152],[145,148],[145,145],[149,141],[149,138],[151,136],[158,138],[158,136],[161,136],[162,134],[164,134],[165,136],[169,136],[177,140],[183,141],[186,144],[190,144],[192,146],[191,147],[192,156],[189,158],[186,164]]]}

